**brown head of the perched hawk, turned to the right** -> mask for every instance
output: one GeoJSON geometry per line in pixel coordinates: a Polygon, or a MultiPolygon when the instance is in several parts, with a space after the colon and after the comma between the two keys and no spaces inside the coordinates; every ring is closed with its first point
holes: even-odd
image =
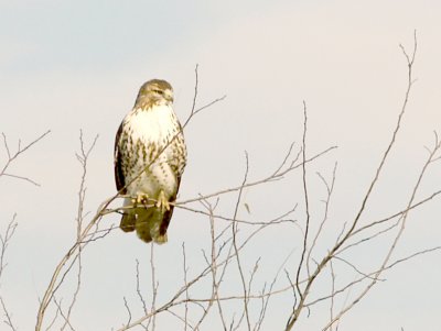
{"type": "Polygon", "coordinates": [[[165,80],[152,79],[141,86],[135,106],[146,109],[153,104],[170,104],[172,102],[172,86],[165,80]]]}

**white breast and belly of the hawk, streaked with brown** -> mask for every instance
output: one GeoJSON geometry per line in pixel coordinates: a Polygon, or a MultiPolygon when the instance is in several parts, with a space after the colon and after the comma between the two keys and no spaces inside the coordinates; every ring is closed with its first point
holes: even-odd
{"type": "Polygon", "coordinates": [[[118,146],[125,181],[138,176],[128,185],[129,195],[142,192],[155,198],[160,190],[169,197],[176,194],[186,150],[172,107],[133,109],[123,120],[118,146]]]}

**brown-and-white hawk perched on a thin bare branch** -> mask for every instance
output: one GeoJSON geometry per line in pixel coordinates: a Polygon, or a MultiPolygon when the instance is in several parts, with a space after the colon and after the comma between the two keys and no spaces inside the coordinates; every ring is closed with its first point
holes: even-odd
{"type": "Polygon", "coordinates": [[[115,141],[115,180],[127,196],[120,228],[137,230],[144,242],[166,242],[173,213],[169,202],[176,199],[186,163],[184,136],[172,103],[169,82],[147,81],[115,141]]]}

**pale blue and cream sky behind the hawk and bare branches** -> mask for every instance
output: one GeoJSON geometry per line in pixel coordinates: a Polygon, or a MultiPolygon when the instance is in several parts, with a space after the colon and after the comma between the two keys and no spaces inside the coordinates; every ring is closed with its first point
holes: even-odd
{"type": "MultiPolygon", "coordinates": [[[[11,147],[19,139],[24,143],[52,131],[10,169],[41,187],[0,178],[0,230],[14,212],[19,223],[0,287],[17,327],[34,327],[39,297],[55,264],[74,242],[79,130],[88,142],[99,134],[87,179],[86,210],[94,213],[115,192],[114,139],[138,88],[151,78],[170,81],[175,111],[184,120],[192,104],[196,64],[200,104],[224,95],[227,98],[197,115],[185,131],[189,164],[181,199],[239,185],[244,151],[249,154],[250,179],[272,172],[290,143],[300,144],[305,100],[309,152],[338,146],[310,170],[312,210],[319,222],[324,190],[314,173],[330,176],[338,163],[329,223],[329,235],[335,239],[344,221],[354,217],[390,137],[407,79],[399,44],[410,52],[417,30],[417,81],[367,216],[381,218],[400,210],[427,155],[424,145],[433,143],[434,130],[441,135],[440,16],[441,2],[433,0],[0,0],[0,131],[11,147]]],[[[0,150],[0,167],[4,159],[6,151],[0,150]]],[[[440,169],[441,164],[430,168],[419,197],[440,189],[440,169]]],[[[301,202],[299,175],[247,190],[251,213],[241,208],[241,217],[267,220],[301,202]]],[[[439,199],[433,200],[410,214],[396,258],[440,244],[440,206],[439,199]]],[[[301,222],[302,211],[299,207],[292,218],[301,222]]],[[[219,212],[232,216],[234,200],[223,199],[219,212]]],[[[110,225],[119,220],[109,216],[104,222],[110,225]]],[[[169,243],[155,250],[160,299],[165,300],[182,285],[183,242],[189,263],[193,263],[191,273],[205,266],[201,251],[208,249],[208,230],[206,218],[175,211],[169,243]]],[[[381,261],[380,247],[373,243],[346,257],[368,272],[381,261]]],[[[140,261],[149,291],[150,249],[135,234],[121,231],[112,231],[88,247],[73,316],[77,330],[120,327],[127,319],[125,296],[140,317],[135,261],[140,261]]],[[[271,282],[286,256],[300,249],[297,228],[272,228],[257,239],[245,255],[249,268],[261,256],[256,288],[271,282]]],[[[321,250],[326,250],[325,244],[321,250]]],[[[340,330],[433,330],[441,307],[440,258],[440,253],[428,254],[384,274],[387,280],[345,316],[340,330]]],[[[345,271],[341,279],[353,277],[345,271]]],[[[280,287],[283,285],[281,278],[280,287]]],[[[223,286],[236,288],[237,284],[225,280],[223,286]]],[[[198,294],[208,296],[203,288],[198,294]]],[[[67,289],[66,300],[69,295],[67,289]]],[[[263,330],[282,330],[292,306],[289,298],[275,297],[270,302],[263,330]]],[[[312,309],[298,330],[321,330],[326,309],[324,305],[312,309]]],[[[170,321],[161,323],[169,330],[181,326],[171,316],[166,318],[170,321]]],[[[205,324],[205,330],[220,330],[212,323],[205,324]]]]}

